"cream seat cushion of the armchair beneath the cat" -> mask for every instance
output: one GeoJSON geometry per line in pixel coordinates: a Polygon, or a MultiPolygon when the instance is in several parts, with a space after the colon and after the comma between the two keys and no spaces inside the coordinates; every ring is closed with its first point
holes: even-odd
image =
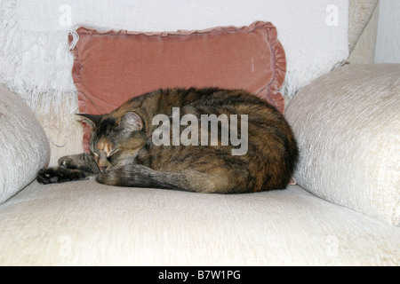
{"type": "Polygon", "coordinates": [[[302,190],[36,182],[0,207],[0,264],[398,265],[400,230],[302,190]]]}

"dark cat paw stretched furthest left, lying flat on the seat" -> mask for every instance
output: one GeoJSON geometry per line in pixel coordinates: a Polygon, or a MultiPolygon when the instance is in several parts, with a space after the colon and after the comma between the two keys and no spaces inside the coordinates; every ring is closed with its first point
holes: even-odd
{"type": "Polygon", "coordinates": [[[42,185],[59,184],[82,179],[87,179],[83,171],[70,170],[64,167],[44,168],[39,170],[36,176],[37,182],[42,185]]]}

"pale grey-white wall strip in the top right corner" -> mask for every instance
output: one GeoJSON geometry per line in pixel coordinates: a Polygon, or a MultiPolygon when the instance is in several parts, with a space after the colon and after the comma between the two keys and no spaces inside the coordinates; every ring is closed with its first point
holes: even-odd
{"type": "Polygon", "coordinates": [[[380,0],[376,63],[400,63],[400,1],[380,0]]]}

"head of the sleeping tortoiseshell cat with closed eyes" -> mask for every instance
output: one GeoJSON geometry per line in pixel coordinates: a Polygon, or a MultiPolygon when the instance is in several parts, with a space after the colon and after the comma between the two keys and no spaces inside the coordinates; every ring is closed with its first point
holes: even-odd
{"type": "Polygon", "coordinates": [[[92,128],[90,149],[100,171],[130,162],[146,144],[143,120],[139,114],[78,114],[92,128]]]}

